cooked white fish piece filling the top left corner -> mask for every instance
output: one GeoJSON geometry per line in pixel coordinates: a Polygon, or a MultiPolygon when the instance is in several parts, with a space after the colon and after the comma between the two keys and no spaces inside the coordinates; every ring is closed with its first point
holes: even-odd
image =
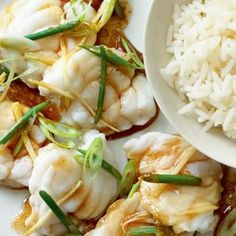
{"type": "MultiPolygon", "coordinates": [[[[7,37],[15,39],[17,37],[23,37],[50,27],[58,26],[61,23],[75,20],[82,13],[85,15],[85,21],[88,22],[92,21],[96,16],[96,11],[93,7],[81,1],[76,1],[72,5],[67,3],[63,6],[60,0],[17,0],[0,11],[0,17],[2,19],[2,23],[0,24],[0,38],[7,37]]],[[[70,51],[80,43],[95,43],[96,33],[91,33],[87,38],[77,35],[74,32],[71,33],[71,36],[63,36],[63,38],[62,34],[58,34],[39,39],[32,42],[39,45],[39,48],[35,52],[33,49],[21,52],[16,49],[3,47],[0,50],[0,57],[7,59],[4,65],[8,69],[10,69],[14,62],[16,73],[30,72],[30,75],[22,77],[22,80],[28,86],[34,87],[27,80],[29,78],[34,80],[42,79],[42,73],[47,66],[53,64],[60,57],[62,40],[64,40],[67,50],[70,51]]]]}

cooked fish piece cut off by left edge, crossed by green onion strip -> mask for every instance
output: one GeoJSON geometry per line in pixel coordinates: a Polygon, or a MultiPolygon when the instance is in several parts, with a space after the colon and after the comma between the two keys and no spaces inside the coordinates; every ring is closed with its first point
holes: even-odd
{"type": "MultiPolygon", "coordinates": [[[[0,103],[0,137],[6,134],[15,124],[15,118],[12,112],[13,102],[5,100],[0,103]]],[[[38,147],[45,141],[38,126],[33,125],[29,133],[32,141],[38,147]]],[[[29,178],[32,173],[33,161],[22,151],[17,157],[13,157],[13,149],[16,142],[0,146],[0,184],[11,188],[22,188],[29,185],[29,178]]]]}

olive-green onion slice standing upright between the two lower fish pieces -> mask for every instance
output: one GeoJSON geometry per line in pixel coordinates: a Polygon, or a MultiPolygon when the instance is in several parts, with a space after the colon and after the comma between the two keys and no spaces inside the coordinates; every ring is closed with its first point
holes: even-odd
{"type": "Polygon", "coordinates": [[[120,196],[125,197],[131,191],[134,183],[137,180],[137,163],[135,160],[129,160],[126,164],[123,176],[120,183],[120,196]]]}

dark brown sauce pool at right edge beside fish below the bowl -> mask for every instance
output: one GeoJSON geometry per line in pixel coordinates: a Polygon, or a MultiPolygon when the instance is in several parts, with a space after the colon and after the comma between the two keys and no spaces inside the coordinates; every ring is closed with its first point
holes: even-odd
{"type": "Polygon", "coordinates": [[[230,211],[236,208],[236,169],[224,167],[224,177],[222,180],[224,191],[220,202],[220,208],[217,211],[220,219],[215,230],[216,232],[230,211]]]}

